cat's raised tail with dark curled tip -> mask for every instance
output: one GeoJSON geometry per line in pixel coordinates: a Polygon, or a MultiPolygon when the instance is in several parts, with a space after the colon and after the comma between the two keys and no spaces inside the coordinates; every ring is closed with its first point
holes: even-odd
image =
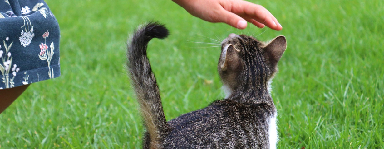
{"type": "Polygon", "coordinates": [[[140,104],[144,126],[150,139],[150,146],[160,148],[162,139],[169,133],[170,127],[161,105],[159,87],[147,57],[147,45],[152,38],[166,38],[168,29],[157,22],[140,26],[128,40],[128,70],[132,85],[140,104]]]}

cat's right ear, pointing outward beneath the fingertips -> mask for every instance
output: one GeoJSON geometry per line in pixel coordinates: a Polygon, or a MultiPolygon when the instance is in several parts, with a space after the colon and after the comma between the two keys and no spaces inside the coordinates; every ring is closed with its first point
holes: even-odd
{"type": "Polygon", "coordinates": [[[287,41],[284,36],[278,36],[273,39],[270,43],[262,47],[265,55],[273,66],[277,65],[281,56],[283,55],[287,47],[287,41]]]}

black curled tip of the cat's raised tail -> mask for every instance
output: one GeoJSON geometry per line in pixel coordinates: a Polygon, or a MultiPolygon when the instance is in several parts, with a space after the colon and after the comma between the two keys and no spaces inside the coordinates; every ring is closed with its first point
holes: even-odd
{"type": "Polygon", "coordinates": [[[146,36],[163,39],[169,35],[168,29],[159,22],[150,22],[145,28],[147,29],[146,36]]]}

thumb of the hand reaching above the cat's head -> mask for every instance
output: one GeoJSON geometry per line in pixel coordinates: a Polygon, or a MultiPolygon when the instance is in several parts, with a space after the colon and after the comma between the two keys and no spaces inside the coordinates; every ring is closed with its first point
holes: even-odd
{"type": "Polygon", "coordinates": [[[219,16],[218,21],[220,22],[227,23],[228,25],[238,29],[247,28],[247,21],[235,13],[224,10],[219,16]]]}

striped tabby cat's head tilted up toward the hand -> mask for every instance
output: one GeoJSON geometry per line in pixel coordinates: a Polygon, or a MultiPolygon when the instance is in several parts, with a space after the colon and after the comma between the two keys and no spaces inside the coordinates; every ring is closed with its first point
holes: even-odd
{"type": "Polygon", "coordinates": [[[266,85],[277,71],[285,49],[284,36],[262,42],[251,36],[229,34],[222,42],[218,73],[231,90],[246,85],[266,85]]]}

